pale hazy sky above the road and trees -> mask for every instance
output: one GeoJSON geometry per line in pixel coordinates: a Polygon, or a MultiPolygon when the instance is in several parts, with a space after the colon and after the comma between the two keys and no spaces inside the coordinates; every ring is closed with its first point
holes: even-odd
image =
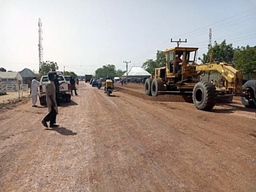
{"type": "Polygon", "coordinates": [[[38,72],[38,18],[44,61],[78,75],[108,64],[125,70],[123,61],[141,66],[175,47],[171,38],[186,38],[180,46],[201,56],[209,28],[212,43],[256,46],[255,0],[0,0],[0,67],[38,72]]]}

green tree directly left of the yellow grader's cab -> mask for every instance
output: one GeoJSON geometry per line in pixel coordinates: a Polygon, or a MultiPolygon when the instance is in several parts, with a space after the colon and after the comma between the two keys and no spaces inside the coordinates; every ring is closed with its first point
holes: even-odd
{"type": "Polygon", "coordinates": [[[154,73],[156,68],[164,66],[166,66],[164,51],[157,51],[156,60],[147,59],[142,63],[142,68],[145,69],[148,73],[154,73]]]}

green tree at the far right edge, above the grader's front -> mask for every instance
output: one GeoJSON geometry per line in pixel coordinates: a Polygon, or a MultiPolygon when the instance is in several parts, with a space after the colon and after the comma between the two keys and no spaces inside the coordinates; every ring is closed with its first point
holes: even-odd
{"type": "Polygon", "coordinates": [[[233,60],[237,70],[244,73],[256,72],[256,46],[238,47],[233,60]]]}

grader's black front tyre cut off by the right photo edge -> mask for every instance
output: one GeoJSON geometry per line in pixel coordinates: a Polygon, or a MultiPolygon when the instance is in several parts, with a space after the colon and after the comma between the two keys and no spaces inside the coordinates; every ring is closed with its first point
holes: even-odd
{"type": "Polygon", "coordinates": [[[248,89],[250,92],[251,97],[246,98],[246,97],[241,97],[241,101],[243,105],[246,108],[255,108],[256,106],[256,101],[254,100],[256,98],[256,81],[255,80],[248,80],[246,83],[243,85],[243,90],[248,89]],[[254,98],[253,98],[254,96],[254,98]]]}

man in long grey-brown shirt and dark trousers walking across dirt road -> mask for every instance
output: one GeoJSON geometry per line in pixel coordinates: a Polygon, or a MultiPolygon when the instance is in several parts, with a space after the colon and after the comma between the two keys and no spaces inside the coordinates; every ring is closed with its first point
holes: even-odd
{"type": "Polygon", "coordinates": [[[56,90],[54,79],[55,76],[53,73],[48,73],[49,82],[46,84],[46,102],[48,106],[48,113],[45,118],[41,121],[41,123],[48,127],[47,122],[50,121],[50,127],[56,127],[56,116],[58,114],[58,107],[56,103],[56,90]]]}

